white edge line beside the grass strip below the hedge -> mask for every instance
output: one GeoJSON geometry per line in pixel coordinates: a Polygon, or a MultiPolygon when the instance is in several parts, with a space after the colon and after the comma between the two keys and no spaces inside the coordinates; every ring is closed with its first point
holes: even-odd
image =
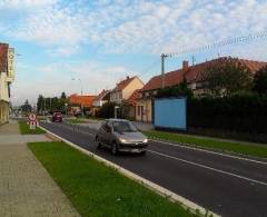
{"type": "Polygon", "coordinates": [[[259,161],[259,160],[249,159],[249,158],[245,158],[245,157],[238,157],[238,156],[234,156],[234,155],[216,152],[216,151],[212,151],[212,150],[206,150],[206,149],[201,149],[201,148],[197,148],[197,147],[190,147],[189,145],[187,146],[187,145],[171,144],[171,142],[168,142],[168,141],[160,141],[160,140],[157,140],[157,139],[149,139],[149,140],[150,141],[156,141],[156,142],[159,142],[159,144],[169,145],[169,146],[177,146],[177,147],[185,148],[185,149],[197,150],[197,151],[208,152],[208,154],[212,154],[212,155],[219,155],[219,156],[228,157],[228,158],[233,158],[233,159],[238,159],[238,160],[245,160],[245,161],[267,165],[267,161],[259,161]]]}

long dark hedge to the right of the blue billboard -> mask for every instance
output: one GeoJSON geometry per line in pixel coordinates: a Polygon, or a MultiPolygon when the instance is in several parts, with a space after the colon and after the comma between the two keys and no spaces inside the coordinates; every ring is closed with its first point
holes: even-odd
{"type": "Polygon", "coordinates": [[[267,134],[267,96],[189,99],[188,127],[267,134]]]}

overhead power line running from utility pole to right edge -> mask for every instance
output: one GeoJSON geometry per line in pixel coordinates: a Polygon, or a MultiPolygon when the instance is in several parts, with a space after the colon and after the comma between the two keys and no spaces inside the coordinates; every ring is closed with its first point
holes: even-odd
{"type": "Polygon", "coordinates": [[[167,55],[167,57],[175,57],[175,56],[185,55],[185,53],[201,52],[205,50],[221,48],[221,47],[229,46],[229,45],[246,43],[246,42],[250,42],[250,41],[254,41],[254,40],[257,40],[260,38],[265,38],[265,37],[267,37],[267,30],[260,31],[260,32],[257,32],[254,34],[233,37],[233,38],[228,38],[228,39],[225,39],[221,41],[216,41],[214,43],[208,43],[208,45],[205,45],[201,47],[181,49],[180,51],[165,53],[165,55],[167,55]]]}

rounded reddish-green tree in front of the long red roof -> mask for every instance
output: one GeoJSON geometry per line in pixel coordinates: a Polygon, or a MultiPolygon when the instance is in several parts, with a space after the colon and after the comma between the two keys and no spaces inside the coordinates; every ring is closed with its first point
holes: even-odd
{"type": "Polygon", "coordinates": [[[237,58],[229,57],[211,63],[204,73],[202,83],[211,96],[229,96],[236,91],[250,90],[253,76],[237,58]]]}

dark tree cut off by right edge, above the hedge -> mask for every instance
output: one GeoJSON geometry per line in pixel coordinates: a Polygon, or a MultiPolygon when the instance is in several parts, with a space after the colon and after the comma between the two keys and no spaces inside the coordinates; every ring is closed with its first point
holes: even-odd
{"type": "Polygon", "coordinates": [[[256,72],[253,90],[260,95],[267,95],[267,66],[256,72]]]}

